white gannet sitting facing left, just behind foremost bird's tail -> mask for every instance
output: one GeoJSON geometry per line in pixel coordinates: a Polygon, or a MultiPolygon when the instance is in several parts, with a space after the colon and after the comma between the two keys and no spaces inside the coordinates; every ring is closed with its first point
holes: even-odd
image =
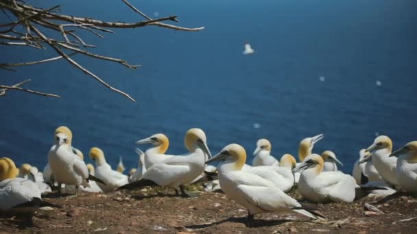
{"type": "Polygon", "coordinates": [[[294,172],[302,171],[298,181],[300,194],[313,203],[353,202],[357,187],[355,179],[340,171],[323,172],[323,166],[323,158],[313,154],[294,169],[294,172]]]}

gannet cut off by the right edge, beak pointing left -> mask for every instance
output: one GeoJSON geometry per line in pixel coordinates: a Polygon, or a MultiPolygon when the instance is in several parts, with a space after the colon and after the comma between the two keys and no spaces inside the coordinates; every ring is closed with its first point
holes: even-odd
{"type": "Polygon", "coordinates": [[[417,194],[417,141],[405,144],[392,156],[398,158],[395,171],[398,184],[406,192],[417,194]]]}

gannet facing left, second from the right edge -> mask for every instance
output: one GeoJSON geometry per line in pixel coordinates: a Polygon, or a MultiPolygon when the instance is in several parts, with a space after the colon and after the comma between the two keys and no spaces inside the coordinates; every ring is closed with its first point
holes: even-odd
{"type": "MultiPolygon", "coordinates": [[[[380,135],[375,138],[374,143],[366,151],[372,153],[370,156],[372,164],[377,168],[378,174],[382,179],[389,185],[398,186],[398,181],[395,177],[397,158],[389,157],[392,153],[392,140],[386,135],[380,135]]],[[[366,159],[363,159],[361,162],[364,162],[366,159]]]]}

